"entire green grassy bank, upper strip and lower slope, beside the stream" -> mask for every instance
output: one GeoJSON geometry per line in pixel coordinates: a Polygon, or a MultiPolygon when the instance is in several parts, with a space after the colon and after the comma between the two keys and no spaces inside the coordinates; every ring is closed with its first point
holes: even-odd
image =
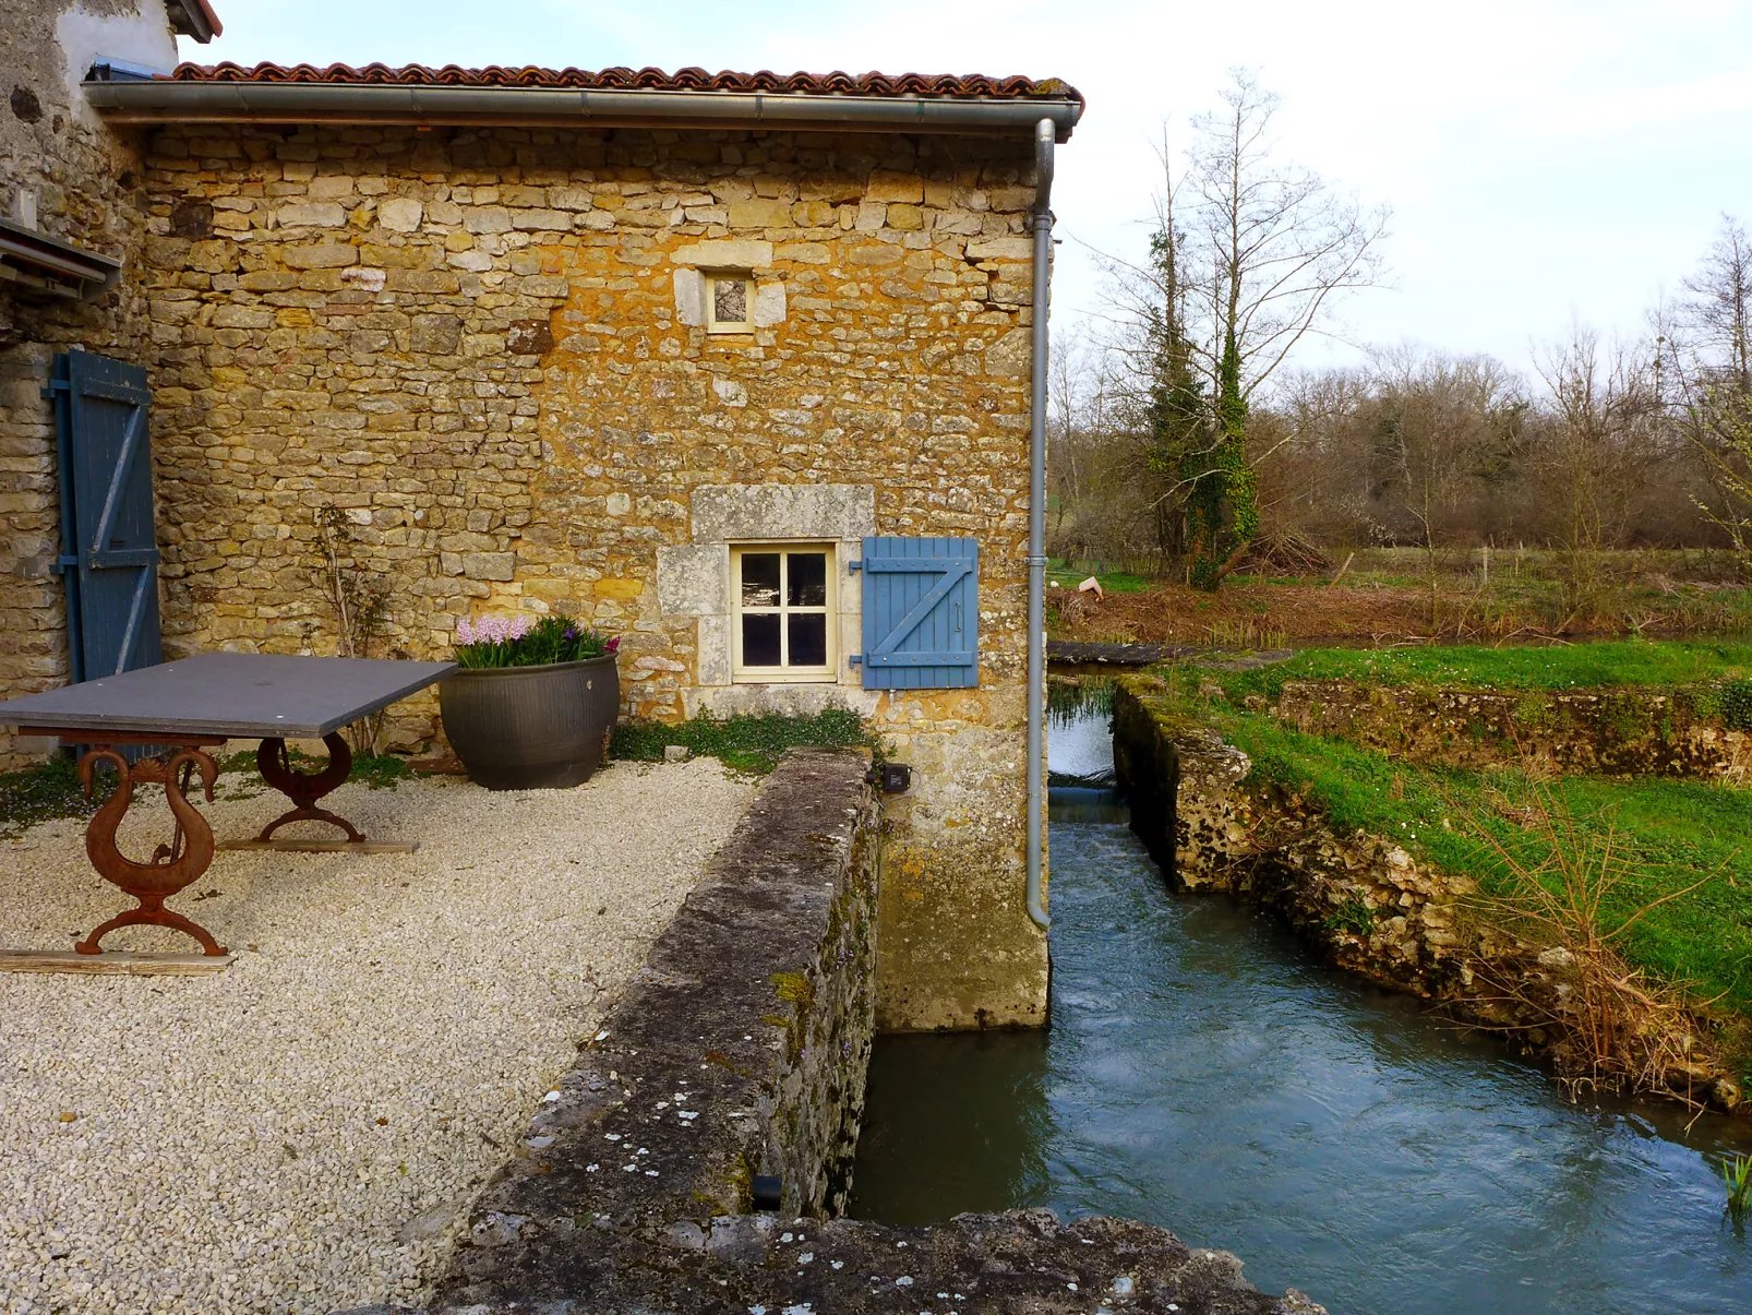
{"type": "Polygon", "coordinates": [[[1160,675],[1176,712],[1214,726],[1253,759],[1254,782],[1318,803],[1340,831],[1391,836],[1421,861],[1475,878],[1486,896],[1480,917],[1493,915],[1493,899],[1510,899],[1528,871],[1551,889],[1556,845],[1596,857],[1610,847],[1600,928],[1624,928],[1617,943],[1633,968],[1731,1019],[1724,1043],[1752,1078],[1752,791],[1416,766],[1295,731],[1260,701],[1275,698],[1286,679],[1556,689],[1738,680],[1748,666],[1752,647],[1738,643],[1610,643],[1309,650],[1258,672],[1160,675]],[[1529,824],[1542,808],[1559,819],[1556,833],[1529,824]]]}

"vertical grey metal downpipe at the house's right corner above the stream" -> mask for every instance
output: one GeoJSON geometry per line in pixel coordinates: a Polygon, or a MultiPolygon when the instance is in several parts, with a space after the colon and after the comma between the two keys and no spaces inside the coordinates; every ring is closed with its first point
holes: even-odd
{"type": "Polygon", "coordinates": [[[1046,791],[1041,749],[1046,714],[1046,354],[1048,302],[1053,254],[1053,142],[1051,119],[1034,128],[1034,351],[1028,361],[1028,917],[1049,928],[1041,905],[1041,850],[1046,791]]]}

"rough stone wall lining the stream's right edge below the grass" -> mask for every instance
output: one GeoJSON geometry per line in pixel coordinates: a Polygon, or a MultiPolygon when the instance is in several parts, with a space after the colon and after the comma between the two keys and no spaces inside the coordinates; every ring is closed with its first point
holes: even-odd
{"type": "MultiPolygon", "coordinates": [[[[1330,963],[1440,1001],[1461,1020],[1556,1043],[1540,1019],[1565,1010],[1566,950],[1522,942],[1468,908],[1477,882],[1367,831],[1337,831],[1318,800],[1249,778],[1253,761],[1174,714],[1167,686],[1114,689],[1114,771],[1132,828],[1179,891],[1221,891],[1275,912],[1330,963]],[[1522,1005],[1507,999],[1514,982],[1522,1005]]],[[[1689,1099],[1741,1108],[1740,1087],[1703,1047],[1664,1080],[1689,1099]]]]}

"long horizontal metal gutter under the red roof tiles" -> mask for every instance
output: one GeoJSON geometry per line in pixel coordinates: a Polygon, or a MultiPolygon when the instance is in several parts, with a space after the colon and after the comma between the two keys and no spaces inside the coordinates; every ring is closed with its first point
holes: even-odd
{"type": "Polygon", "coordinates": [[[107,123],[412,123],[587,126],[881,128],[927,133],[1016,133],[1051,123],[1067,140],[1083,103],[1018,96],[855,96],[794,91],[580,91],[354,82],[82,84],[107,123]]]}

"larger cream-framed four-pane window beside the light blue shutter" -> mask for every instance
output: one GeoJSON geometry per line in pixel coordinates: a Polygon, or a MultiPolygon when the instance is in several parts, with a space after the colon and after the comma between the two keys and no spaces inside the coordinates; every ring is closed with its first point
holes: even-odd
{"type": "Polygon", "coordinates": [[[731,554],[738,680],[834,680],[834,549],[739,547],[731,554]]]}

